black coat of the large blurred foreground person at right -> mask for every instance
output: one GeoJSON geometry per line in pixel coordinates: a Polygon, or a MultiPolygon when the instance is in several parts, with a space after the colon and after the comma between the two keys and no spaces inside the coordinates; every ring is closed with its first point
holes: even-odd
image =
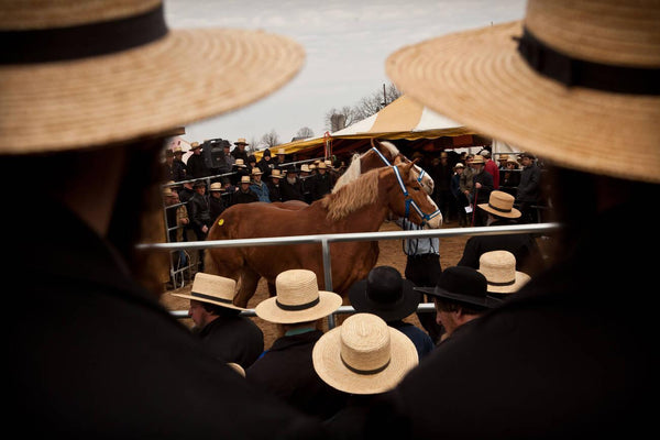
{"type": "Polygon", "coordinates": [[[613,233],[636,204],[594,219],[563,263],[425,358],[387,395],[389,411],[372,414],[370,438],[392,432],[393,415],[404,418],[395,422],[404,438],[639,438],[652,429],[657,314],[646,306],[657,264],[620,257],[636,255],[648,234],[613,233]]]}

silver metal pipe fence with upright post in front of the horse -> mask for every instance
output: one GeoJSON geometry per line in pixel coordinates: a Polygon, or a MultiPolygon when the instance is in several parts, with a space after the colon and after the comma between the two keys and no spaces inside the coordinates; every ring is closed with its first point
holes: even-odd
{"type": "MultiPolygon", "coordinates": [[[[502,227],[473,227],[473,228],[447,228],[428,229],[422,231],[380,231],[380,232],[351,232],[341,234],[315,234],[315,235],[293,235],[293,237],[268,237],[260,239],[237,239],[237,240],[208,240],[177,243],[142,243],[138,245],[139,250],[201,250],[209,248],[238,248],[238,246],[273,246],[285,244],[306,244],[320,243],[323,256],[323,277],[326,290],[332,292],[332,267],[330,255],[330,243],[350,242],[350,241],[381,241],[381,240],[402,240],[419,238],[450,238],[460,235],[504,235],[514,233],[548,234],[560,229],[559,223],[530,223],[513,224],[502,227]]],[[[424,302],[418,307],[418,311],[432,311],[433,304],[424,302]]],[[[328,317],[328,327],[334,328],[334,316],[342,314],[352,314],[354,309],[351,306],[342,306],[328,317]]],[[[241,312],[244,316],[256,316],[254,309],[241,312]]],[[[175,310],[173,315],[177,318],[187,318],[187,311],[175,310]]]]}

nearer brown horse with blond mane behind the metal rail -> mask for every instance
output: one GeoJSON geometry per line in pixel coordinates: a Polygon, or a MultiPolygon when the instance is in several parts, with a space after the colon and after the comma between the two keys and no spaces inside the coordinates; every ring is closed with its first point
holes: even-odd
{"type": "MultiPolygon", "coordinates": [[[[273,204],[242,204],[228,208],[213,223],[207,240],[252,239],[375,232],[389,211],[406,215],[418,224],[439,228],[436,206],[411,173],[415,164],[400,164],[363,174],[337,193],[299,210],[273,204]],[[398,176],[398,178],[397,178],[398,176]],[[413,209],[410,209],[413,208],[413,209]]],[[[378,258],[377,242],[330,244],[333,290],[345,296],[348,288],[366,277],[378,258]]],[[[275,277],[289,268],[308,268],[323,288],[321,245],[294,244],[243,248],[211,248],[206,252],[206,271],[240,280],[234,304],[246,307],[258,279],[268,282],[271,295],[275,277]]]]}

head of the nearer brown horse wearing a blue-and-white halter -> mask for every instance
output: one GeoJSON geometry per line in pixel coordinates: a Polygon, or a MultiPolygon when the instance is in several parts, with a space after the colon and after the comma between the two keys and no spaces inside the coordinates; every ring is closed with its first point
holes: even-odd
{"type": "Polygon", "coordinates": [[[440,228],[442,215],[415,176],[415,162],[410,162],[393,165],[383,172],[391,175],[393,182],[387,190],[389,209],[394,215],[407,218],[414,223],[432,229],[440,228]]]}

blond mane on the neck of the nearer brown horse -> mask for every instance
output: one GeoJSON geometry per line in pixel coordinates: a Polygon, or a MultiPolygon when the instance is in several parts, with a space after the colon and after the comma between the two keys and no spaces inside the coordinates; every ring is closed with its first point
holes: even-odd
{"type": "Polygon", "coordinates": [[[326,195],[321,207],[328,210],[332,221],[344,219],[351,212],[378,199],[378,176],[383,168],[372,169],[337,190],[326,195]]]}

